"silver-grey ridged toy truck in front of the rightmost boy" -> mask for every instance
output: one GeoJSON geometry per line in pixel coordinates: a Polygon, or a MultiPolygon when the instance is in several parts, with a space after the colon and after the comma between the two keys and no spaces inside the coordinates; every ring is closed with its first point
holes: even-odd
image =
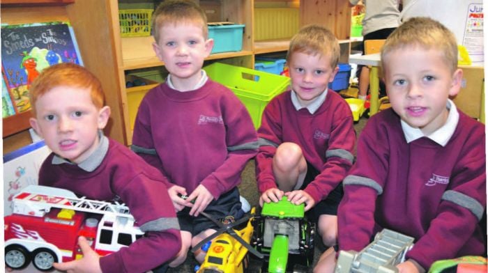
{"type": "Polygon", "coordinates": [[[398,272],[395,265],[405,261],[405,254],[412,247],[413,237],[385,228],[360,252],[340,251],[335,273],[398,272]]]}

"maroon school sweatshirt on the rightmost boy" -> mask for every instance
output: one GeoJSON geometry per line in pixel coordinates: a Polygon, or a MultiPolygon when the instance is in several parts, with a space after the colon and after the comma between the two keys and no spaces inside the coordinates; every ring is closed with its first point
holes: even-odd
{"type": "Polygon", "coordinates": [[[484,253],[485,165],[485,127],[461,111],[445,146],[427,137],[407,143],[392,109],[372,116],[344,179],[340,249],[360,251],[389,228],[415,238],[406,258],[425,270],[436,260],[484,253]]]}

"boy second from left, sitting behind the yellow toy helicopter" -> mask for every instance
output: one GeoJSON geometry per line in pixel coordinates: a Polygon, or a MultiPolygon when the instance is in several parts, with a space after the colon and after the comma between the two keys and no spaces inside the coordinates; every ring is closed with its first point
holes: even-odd
{"type": "MultiPolygon", "coordinates": [[[[242,102],[201,69],[213,47],[204,11],[192,1],[165,1],[153,15],[153,31],[153,49],[169,75],[139,106],[132,150],[169,178],[182,230],[183,246],[170,264],[176,267],[218,228],[200,212],[220,221],[242,217],[237,185],[257,153],[257,135],[242,102]]],[[[204,256],[195,253],[199,262],[204,256]]]]}

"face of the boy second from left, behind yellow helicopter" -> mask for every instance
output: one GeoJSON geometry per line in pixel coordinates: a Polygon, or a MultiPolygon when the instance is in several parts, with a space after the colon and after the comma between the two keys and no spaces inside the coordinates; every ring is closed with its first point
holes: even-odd
{"type": "Polygon", "coordinates": [[[175,86],[195,86],[201,78],[204,59],[210,55],[213,40],[205,40],[201,26],[192,22],[166,24],[160,40],[153,43],[158,58],[165,63],[175,86]]]}

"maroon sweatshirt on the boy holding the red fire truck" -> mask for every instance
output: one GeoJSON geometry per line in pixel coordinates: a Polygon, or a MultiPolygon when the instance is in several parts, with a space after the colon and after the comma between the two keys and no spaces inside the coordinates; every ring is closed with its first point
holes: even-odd
{"type": "Polygon", "coordinates": [[[178,219],[165,178],[112,139],[102,137],[96,152],[79,165],[52,153],[40,168],[39,185],[128,206],[146,235],[101,257],[102,272],[146,272],[173,258],[181,248],[178,219]]]}

